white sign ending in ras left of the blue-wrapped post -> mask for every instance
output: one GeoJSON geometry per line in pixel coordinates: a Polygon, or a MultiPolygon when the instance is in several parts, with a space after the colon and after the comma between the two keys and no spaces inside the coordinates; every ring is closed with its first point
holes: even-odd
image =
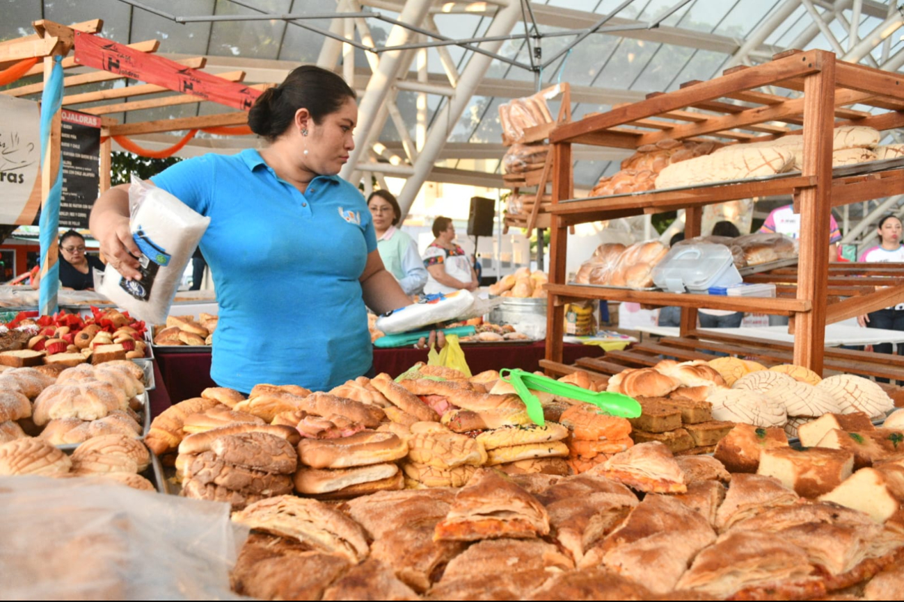
{"type": "Polygon", "coordinates": [[[38,103],[0,95],[0,224],[30,225],[41,208],[38,103]]]}

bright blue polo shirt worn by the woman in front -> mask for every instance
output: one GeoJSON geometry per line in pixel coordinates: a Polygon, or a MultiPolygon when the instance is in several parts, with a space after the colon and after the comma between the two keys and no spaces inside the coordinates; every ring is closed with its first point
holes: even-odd
{"type": "Polygon", "coordinates": [[[220,304],[217,384],[323,391],[370,369],[358,278],[377,240],[359,190],[317,176],[302,194],[253,149],[179,162],[152,181],[211,218],[201,250],[220,304]]]}

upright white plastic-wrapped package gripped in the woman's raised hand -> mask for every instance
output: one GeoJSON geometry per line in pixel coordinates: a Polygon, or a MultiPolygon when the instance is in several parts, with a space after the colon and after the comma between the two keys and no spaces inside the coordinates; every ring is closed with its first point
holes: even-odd
{"type": "Polygon", "coordinates": [[[129,227],[141,249],[141,280],[126,280],[107,264],[97,290],[138,319],[162,324],[211,218],[135,175],[128,188],[128,204],[129,227]]]}

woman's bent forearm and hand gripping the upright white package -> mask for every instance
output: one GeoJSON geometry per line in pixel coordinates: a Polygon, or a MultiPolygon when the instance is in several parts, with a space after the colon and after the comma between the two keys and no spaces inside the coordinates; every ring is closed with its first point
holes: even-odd
{"type": "Polygon", "coordinates": [[[109,264],[129,280],[141,280],[137,257],[141,255],[128,227],[128,184],[107,190],[94,202],[89,219],[91,236],[109,264]]]}

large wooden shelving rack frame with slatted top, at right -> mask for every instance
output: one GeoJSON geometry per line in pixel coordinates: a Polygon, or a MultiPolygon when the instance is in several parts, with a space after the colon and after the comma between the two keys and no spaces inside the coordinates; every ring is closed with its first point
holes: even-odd
{"type": "Polygon", "coordinates": [[[904,78],[836,60],[831,52],[788,51],[757,67],[728,69],[720,78],[688,82],[673,92],[656,93],[640,102],[557,127],[550,134],[550,309],[543,366],[550,370],[560,366],[564,304],[590,298],[688,308],[683,311],[681,324],[684,337],[694,329],[700,307],[788,315],[795,343],[787,359],[821,374],[826,323],[878,310],[904,298],[904,277],[878,278],[890,271],[888,264],[848,264],[853,267],[846,273],[843,267],[832,264],[830,280],[825,249],[829,245],[831,208],[890,196],[904,188],[904,168],[833,180],[833,128],[839,125],[866,125],[878,130],[904,125],[904,78]],[[803,92],[803,96],[788,98],[755,91],[764,86],[803,92]],[[745,104],[729,102],[733,100],[745,104]],[[879,107],[885,112],[873,115],[848,108],[852,105],[879,107]],[[798,125],[802,126],[804,155],[803,169],[796,175],[697,189],[573,199],[571,144],[636,149],[664,138],[760,142],[788,134],[793,131],[789,126],[798,125]],[[685,208],[685,236],[692,238],[701,233],[704,205],[774,195],[792,196],[801,214],[799,269],[794,274],[779,270],[750,282],[769,277],[775,278],[772,282],[788,282],[782,285],[782,296],[777,299],[626,291],[565,282],[566,228],[570,226],[685,208]],[[853,296],[830,309],[827,299],[833,291],[838,292],[836,297],[853,296]]]}

